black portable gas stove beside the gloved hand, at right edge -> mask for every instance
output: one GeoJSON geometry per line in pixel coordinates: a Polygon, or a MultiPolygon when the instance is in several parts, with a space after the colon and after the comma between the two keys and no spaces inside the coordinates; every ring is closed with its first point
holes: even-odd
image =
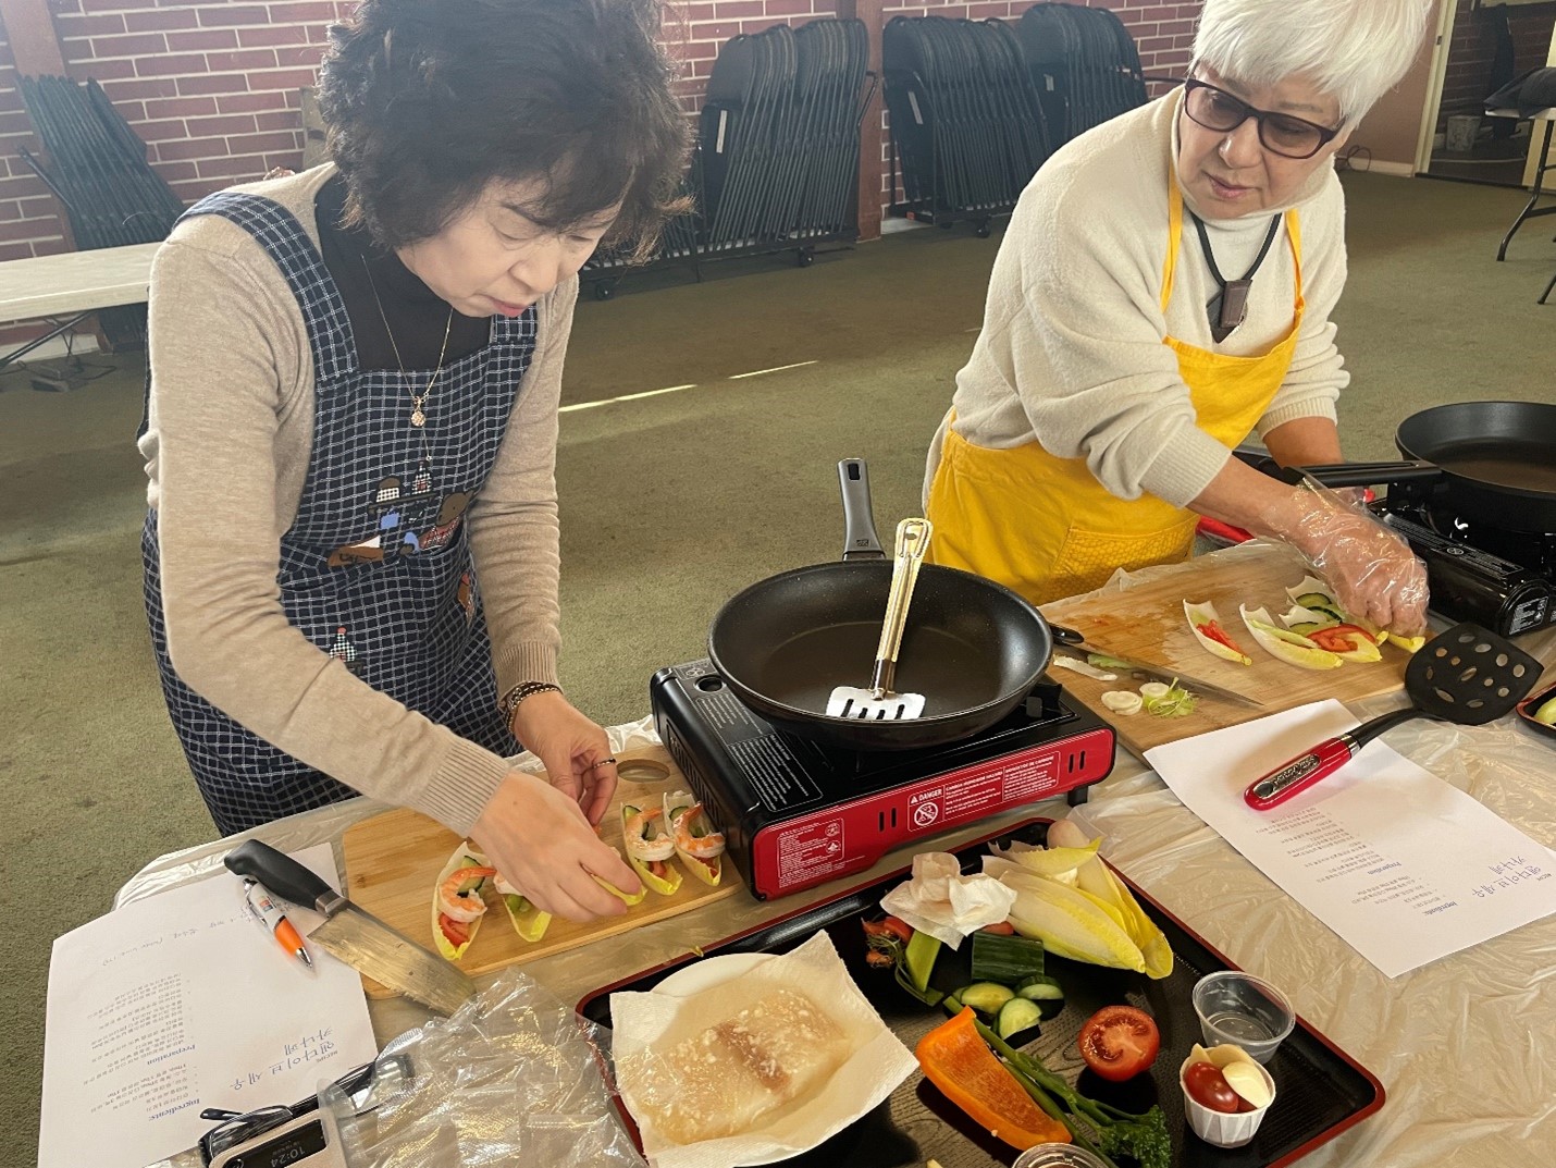
{"type": "Polygon", "coordinates": [[[1556,533],[1455,514],[1446,483],[1394,483],[1372,503],[1427,565],[1432,610],[1512,637],[1556,624],[1556,533]]]}

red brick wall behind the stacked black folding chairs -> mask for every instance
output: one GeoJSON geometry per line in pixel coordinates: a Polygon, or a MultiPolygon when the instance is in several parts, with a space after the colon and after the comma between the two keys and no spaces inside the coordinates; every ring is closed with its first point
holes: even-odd
{"type": "MultiPolygon", "coordinates": [[[[1147,72],[1189,59],[1193,3],[1091,0],[1119,11],[1147,72]]],[[[909,3],[893,16],[1019,17],[1030,0],[909,3]]],[[[185,202],[302,157],[299,90],[313,84],[330,22],[350,0],[50,0],[68,73],[96,78],[185,202]]],[[[671,31],[678,83],[696,112],[719,45],[778,22],[836,16],[836,0],[691,0],[671,31]]],[[[3,30],[0,30],[3,31],[3,30]]],[[[884,115],[882,115],[884,118],[884,115]]],[[[53,201],[17,156],[31,145],[9,45],[0,36],[0,259],[65,249],[53,201]]],[[[879,134],[882,159],[888,135],[879,134]]]]}

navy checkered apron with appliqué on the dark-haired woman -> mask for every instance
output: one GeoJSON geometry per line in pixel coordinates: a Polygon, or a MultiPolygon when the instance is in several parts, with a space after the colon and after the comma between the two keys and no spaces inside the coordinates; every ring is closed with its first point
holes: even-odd
{"type": "MultiPolygon", "coordinates": [[[[219,193],[187,215],[221,215],[254,235],[286,276],[313,346],[313,455],[297,519],[280,542],[286,618],[373,688],[490,751],[518,752],[496,712],[462,503],[492,472],[535,349],[535,310],[495,316],[490,343],[443,368],[417,430],[411,391],[426,386],[433,371],[358,368],[341,293],[291,212],[260,196],[219,193]]],[[[216,827],[230,835],[352,797],[349,786],[263,741],[177,677],[162,614],[156,511],[146,517],[142,554],[162,690],[216,827]]]]}

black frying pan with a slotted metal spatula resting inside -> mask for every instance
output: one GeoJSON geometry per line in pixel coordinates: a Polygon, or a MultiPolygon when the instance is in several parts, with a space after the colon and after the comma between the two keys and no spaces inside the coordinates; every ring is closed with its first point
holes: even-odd
{"type": "Polygon", "coordinates": [[[856,751],[938,746],[985,730],[1022,702],[1053,653],[1029,601],[993,581],[924,565],[913,589],[895,688],[924,695],[904,721],[828,718],[836,685],[870,679],[892,564],[876,539],[860,459],[839,464],[843,561],[758,581],[713,618],[708,656],[745,705],[804,738],[856,751]]]}

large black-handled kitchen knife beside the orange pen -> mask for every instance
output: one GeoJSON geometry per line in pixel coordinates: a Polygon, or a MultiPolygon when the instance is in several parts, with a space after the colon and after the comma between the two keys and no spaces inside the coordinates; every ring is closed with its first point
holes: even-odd
{"type": "Polygon", "coordinates": [[[453,1014],[475,994],[475,983],[431,950],[364,913],[324,880],[269,844],[249,839],[223,861],[238,875],[324,914],[308,939],[358,973],[405,994],[439,1014],[453,1014]]]}

